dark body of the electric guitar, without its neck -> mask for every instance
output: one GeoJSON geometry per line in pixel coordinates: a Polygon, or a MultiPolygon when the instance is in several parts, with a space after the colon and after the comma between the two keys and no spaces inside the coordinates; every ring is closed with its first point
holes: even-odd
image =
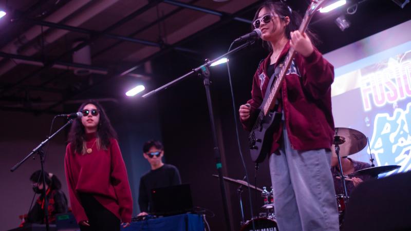
{"type": "MultiPolygon", "coordinates": [[[[258,110],[256,112],[259,113],[258,110]]],[[[272,110],[267,115],[261,113],[260,118],[257,118],[259,122],[255,124],[255,128],[251,131],[249,137],[251,159],[255,163],[263,162],[270,154],[273,134],[278,129],[282,116],[282,113],[272,110]]]]}

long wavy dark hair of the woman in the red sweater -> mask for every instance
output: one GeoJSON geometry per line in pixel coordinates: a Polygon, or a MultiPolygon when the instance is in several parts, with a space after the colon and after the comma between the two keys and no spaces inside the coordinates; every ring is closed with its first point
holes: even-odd
{"type": "MultiPolygon", "coordinates": [[[[83,110],[84,106],[87,104],[93,104],[97,107],[97,110],[100,114],[99,125],[97,127],[97,139],[98,139],[98,148],[107,149],[110,145],[110,138],[117,139],[117,133],[111,126],[110,120],[108,119],[106,112],[103,107],[94,100],[88,100],[84,102],[78,111],[83,110]]],[[[84,125],[81,123],[81,118],[77,118],[73,121],[71,125],[70,133],[68,135],[68,141],[71,143],[72,147],[77,153],[83,153],[84,143],[85,143],[85,129],[84,125]]],[[[83,153],[84,154],[84,153],[83,153]]]]}

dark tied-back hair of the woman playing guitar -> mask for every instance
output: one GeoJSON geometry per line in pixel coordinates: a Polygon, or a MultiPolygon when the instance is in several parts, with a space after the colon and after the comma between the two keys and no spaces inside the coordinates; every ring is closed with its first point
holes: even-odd
{"type": "MultiPolygon", "coordinates": [[[[285,35],[289,40],[291,39],[290,33],[300,28],[301,22],[303,21],[303,18],[301,17],[301,15],[293,11],[286,3],[283,3],[280,1],[269,0],[263,3],[263,5],[261,5],[258,8],[258,10],[255,12],[253,22],[258,18],[258,14],[263,8],[266,8],[270,10],[271,12],[274,12],[275,14],[280,16],[280,19],[283,20],[284,22],[286,22],[285,17],[288,16],[290,18],[290,23],[285,28],[285,35]]],[[[254,29],[255,28],[252,26],[252,30],[254,29]]],[[[313,45],[320,43],[318,36],[314,34],[308,27],[305,31],[305,34],[308,35],[313,45]]],[[[271,43],[267,41],[263,41],[263,47],[268,48],[270,51],[273,50],[273,48],[271,47],[271,43]]]]}

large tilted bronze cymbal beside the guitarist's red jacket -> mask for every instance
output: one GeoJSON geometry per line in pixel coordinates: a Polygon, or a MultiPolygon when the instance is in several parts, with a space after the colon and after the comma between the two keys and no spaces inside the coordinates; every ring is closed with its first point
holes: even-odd
{"type": "Polygon", "coordinates": [[[340,146],[340,157],[347,157],[361,151],[367,145],[367,137],[352,128],[336,127],[331,152],[332,155],[337,156],[335,144],[340,146]]]}

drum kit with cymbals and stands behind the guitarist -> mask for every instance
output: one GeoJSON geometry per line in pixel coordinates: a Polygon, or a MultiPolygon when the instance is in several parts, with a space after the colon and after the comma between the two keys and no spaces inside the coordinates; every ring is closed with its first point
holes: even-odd
{"type": "MultiPolygon", "coordinates": [[[[348,202],[348,195],[347,195],[347,188],[345,186],[345,181],[350,180],[348,176],[344,175],[344,172],[342,170],[342,165],[341,165],[341,157],[347,157],[349,155],[353,155],[362,149],[367,145],[367,137],[360,131],[351,129],[351,128],[335,128],[335,136],[333,140],[333,144],[331,147],[331,152],[333,155],[337,155],[338,157],[338,164],[340,168],[340,179],[341,179],[341,184],[343,187],[343,192],[344,194],[340,195],[335,195],[335,198],[337,199],[337,205],[338,205],[338,210],[339,210],[339,216],[340,216],[340,226],[342,225],[342,222],[344,221],[344,212],[345,212],[345,206],[348,202]]],[[[370,154],[371,155],[371,154],[370,154]]],[[[375,165],[373,164],[373,159],[371,156],[371,166],[369,168],[364,168],[358,171],[352,172],[350,174],[350,177],[354,176],[363,176],[363,175],[369,175],[374,178],[378,178],[379,174],[383,174],[384,172],[388,172],[394,169],[397,169],[401,166],[399,165],[387,165],[387,166],[379,166],[379,167],[374,167],[375,165]]],[[[217,175],[213,175],[215,177],[218,177],[217,175]]],[[[241,216],[242,216],[242,222],[241,222],[241,231],[249,231],[253,230],[253,223],[255,226],[255,230],[272,230],[272,231],[277,231],[277,223],[275,220],[275,214],[274,214],[274,195],[273,195],[273,190],[268,191],[266,187],[263,187],[263,189],[258,188],[254,185],[248,184],[244,180],[235,180],[229,177],[223,177],[226,181],[233,182],[239,185],[244,185],[244,186],[249,186],[252,189],[255,189],[257,191],[261,192],[261,197],[264,199],[264,205],[261,207],[261,209],[264,210],[264,213],[260,213],[258,218],[253,218],[251,220],[245,221],[244,219],[244,211],[242,209],[242,201],[241,201],[241,186],[238,188],[238,196],[239,196],[239,203],[240,203],[240,208],[241,208],[241,216]]]]}

